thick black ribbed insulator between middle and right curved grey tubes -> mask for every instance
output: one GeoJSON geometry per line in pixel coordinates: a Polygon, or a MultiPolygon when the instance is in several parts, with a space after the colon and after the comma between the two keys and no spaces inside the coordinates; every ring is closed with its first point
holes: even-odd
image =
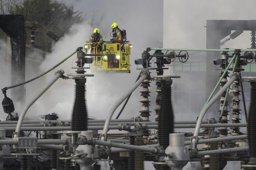
{"type": "Polygon", "coordinates": [[[174,133],[174,108],[172,106],[172,80],[162,80],[158,140],[164,149],[169,146],[169,134],[174,133]]]}

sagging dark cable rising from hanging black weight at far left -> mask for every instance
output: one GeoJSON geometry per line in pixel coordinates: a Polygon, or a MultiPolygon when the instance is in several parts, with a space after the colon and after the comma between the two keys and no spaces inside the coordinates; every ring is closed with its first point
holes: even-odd
{"type": "Polygon", "coordinates": [[[69,56],[67,56],[65,59],[61,60],[58,64],[56,64],[55,66],[53,66],[52,68],[50,68],[50,69],[47,70],[46,72],[44,72],[44,73],[38,75],[37,77],[34,77],[34,78],[32,78],[32,79],[30,79],[30,80],[27,80],[27,81],[25,81],[25,82],[23,82],[23,83],[19,83],[19,84],[15,84],[15,85],[13,85],[13,86],[5,87],[5,88],[2,89],[2,91],[8,90],[8,89],[12,89],[12,88],[14,88],[14,87],[21,86],[21,85],[23,85],[23,84],[27,84],[27,83],[29,83],[29,82],[31,82],[31,81],[34,81],[34,80],[36,80],[36,79],[42,77],[43,75],[46,75],[47,73],[49,73],[50,71],[52,71],[53,69],[55,69],[56,67],[58,67],[59,65],[61,65],[63,62],[65,62],[67,59],[69,59],[71,56],[73,56],[77,51],[79,51],[79,49],[80,49],[80,48],[78,47],[78,48],[76,49],[76,51],[74,51],[72,54],[70,54],[69,56]]]}

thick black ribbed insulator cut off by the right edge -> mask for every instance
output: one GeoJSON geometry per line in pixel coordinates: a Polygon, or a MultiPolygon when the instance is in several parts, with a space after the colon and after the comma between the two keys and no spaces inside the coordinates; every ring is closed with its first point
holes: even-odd
{"type": "Polygon", "coordinates": [[[251,100],[248,115],[247,136],[250,152],[250,161],[256,163],[256,82],[251,82],[251,100]]]}

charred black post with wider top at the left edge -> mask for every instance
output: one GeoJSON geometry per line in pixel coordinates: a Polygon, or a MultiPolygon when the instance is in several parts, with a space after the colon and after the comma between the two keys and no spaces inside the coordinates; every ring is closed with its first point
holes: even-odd
{"type": "MultiPolygon", "coordinates": [[[[11,38],[12,67],[11,84],[25,81],[25,29],[23,15],[0,15],[0,28],[11,38]]],[[[25,100],[24,85],[12,89],[11,98],[14,101],[25,100]]]]}

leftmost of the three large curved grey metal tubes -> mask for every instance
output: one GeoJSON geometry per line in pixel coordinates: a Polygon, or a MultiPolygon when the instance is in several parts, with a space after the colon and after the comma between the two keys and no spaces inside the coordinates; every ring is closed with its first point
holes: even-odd
{"type": "Polygon", "coordinates": [[[23,111],[20,114],[15,132],[13,137],[18,137],[18,134],[20,133],[20,129],[21,129],[21,125],[23,122],[23,119],[27,113],[27,110],[29,110],[30,106],[32,104],[34,104],[35,101],[37,101],[38,98],[40,98],[41,95],[43,95],[44,92],[46,92],[47,89],[49,89],[50,86],[52,86],[53,83],[55,83],[55,81],[58,80],[58,78],[62,77],[64,74],[63,70],[59,70],[55,72],[55,76],[52,78],[52,80],[50,80],[49,83],[46,84],[46,86],[44,86],[44,88],[34,97],[34,99],[32,99],[32,101],[29,102],[29,104],[26,105],[26,107],[23,109],[23,111]]]}

